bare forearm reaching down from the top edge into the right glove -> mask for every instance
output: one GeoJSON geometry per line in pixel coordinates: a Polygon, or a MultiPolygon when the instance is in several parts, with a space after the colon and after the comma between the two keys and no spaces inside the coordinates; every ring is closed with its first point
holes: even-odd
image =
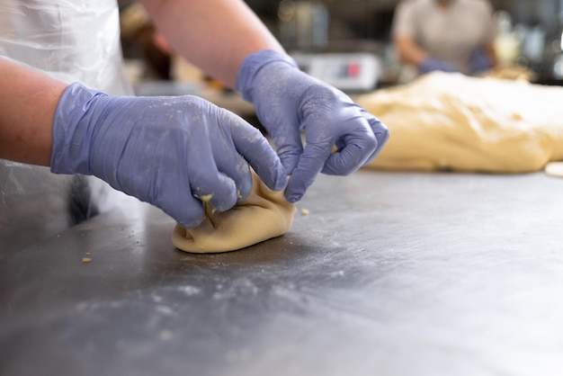
{"type": "Polygon", "coordinates": [[[283,51],[242,0],[143,0],[176,53],[234,87],[238,67],[260,49],[283,51]]]}

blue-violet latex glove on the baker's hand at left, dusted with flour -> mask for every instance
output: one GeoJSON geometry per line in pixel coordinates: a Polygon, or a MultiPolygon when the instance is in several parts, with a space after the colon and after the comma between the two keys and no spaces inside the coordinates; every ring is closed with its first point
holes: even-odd
{"type": "Polygon", "coordinates": [[[248,166],[279,191],[286,178],[259,130],[196,96],[111,97],[67,87],[53,122],[51,171],[95,175],[184,228],[246,199],[248,166]]]}

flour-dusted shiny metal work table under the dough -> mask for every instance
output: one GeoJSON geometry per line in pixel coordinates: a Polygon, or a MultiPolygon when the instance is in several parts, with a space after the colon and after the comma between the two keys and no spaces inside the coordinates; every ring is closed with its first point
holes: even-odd
{"type": "Polygon", "coordinates": [[[1,375],[563,374],[563,180],[321,176],[219,255],[139,208],[0,252],[1,375]]]}

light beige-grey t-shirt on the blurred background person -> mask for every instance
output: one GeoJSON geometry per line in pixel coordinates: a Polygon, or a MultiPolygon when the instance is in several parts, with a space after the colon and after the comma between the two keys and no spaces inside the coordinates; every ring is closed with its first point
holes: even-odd
{"type": "Polygon", "coordinates": [[[436,0],[405,0],[396,10],[393,36],[412,37],[434,58],[469,73],[473,51],[495,39],[493,7],[487,0],[453,0],[444,10],[436,0]]]}

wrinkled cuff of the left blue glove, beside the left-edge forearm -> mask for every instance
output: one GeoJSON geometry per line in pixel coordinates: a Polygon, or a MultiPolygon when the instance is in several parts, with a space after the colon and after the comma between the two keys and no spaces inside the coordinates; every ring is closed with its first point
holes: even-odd
{"type": "Polygon", "coordinates": [[[89,157],[95,122],[88,111],[104,96],[79,83],[68,85],[53,121],[52,173],[92,175],[89,157]]]}

